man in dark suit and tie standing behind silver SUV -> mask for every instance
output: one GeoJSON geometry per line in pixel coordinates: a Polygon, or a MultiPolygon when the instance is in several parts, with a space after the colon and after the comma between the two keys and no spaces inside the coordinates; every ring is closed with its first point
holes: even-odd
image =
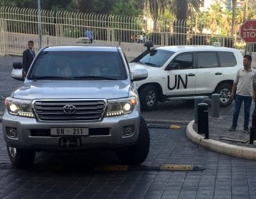
{"type": "Polygon", "coordinates": [[[23,51],[22,55],[22,68],[24,72],[24,76],[26,76],[28,69],[33,61],[33,58],[35,58],[36,54],[33,50],[33,41],[28,41],[28,49],[23,51]]]}

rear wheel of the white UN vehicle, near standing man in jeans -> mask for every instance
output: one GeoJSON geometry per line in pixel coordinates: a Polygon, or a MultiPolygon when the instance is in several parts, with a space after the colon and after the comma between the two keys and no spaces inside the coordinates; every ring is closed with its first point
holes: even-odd
{"type": "Polygon", "coordinates": [[[230,98],[232,91],[232,85],[229,83],[223,83],[218,85],[215,90],[215,93],[220,95],[220,107],[228,107],[231,104],[232,99],[230,98]]]}

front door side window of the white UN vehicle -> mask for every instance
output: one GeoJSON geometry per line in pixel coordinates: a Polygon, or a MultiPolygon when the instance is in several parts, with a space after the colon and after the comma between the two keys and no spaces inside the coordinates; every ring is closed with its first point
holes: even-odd
{"type": "Polygon", "coordinates": [[[171,63],[178,63],[178,70],[193,68],[193,53],[177,55],[171,63]]]}

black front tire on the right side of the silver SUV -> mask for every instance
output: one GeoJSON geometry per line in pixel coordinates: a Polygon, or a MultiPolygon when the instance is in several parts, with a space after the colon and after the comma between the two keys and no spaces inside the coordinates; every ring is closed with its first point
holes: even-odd
{"type": "Polygon", "coordinates": [[[149,129],[146,122],[141,117],[139,126],[139,138],[134,146],[124,149],[117,149],[116,154],[119,162],[128,165],[137,165],[144,162],[149,154],[149,129]]]}

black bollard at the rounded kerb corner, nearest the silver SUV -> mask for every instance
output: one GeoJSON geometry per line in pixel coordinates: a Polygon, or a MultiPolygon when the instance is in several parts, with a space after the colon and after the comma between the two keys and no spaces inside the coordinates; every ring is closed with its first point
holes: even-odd
{"type": "Polygon", "coordinates": [[[198,134],[205,134],[205,139],[209,139],[208,127],[208,104],[198,104],[198,134]]]}

